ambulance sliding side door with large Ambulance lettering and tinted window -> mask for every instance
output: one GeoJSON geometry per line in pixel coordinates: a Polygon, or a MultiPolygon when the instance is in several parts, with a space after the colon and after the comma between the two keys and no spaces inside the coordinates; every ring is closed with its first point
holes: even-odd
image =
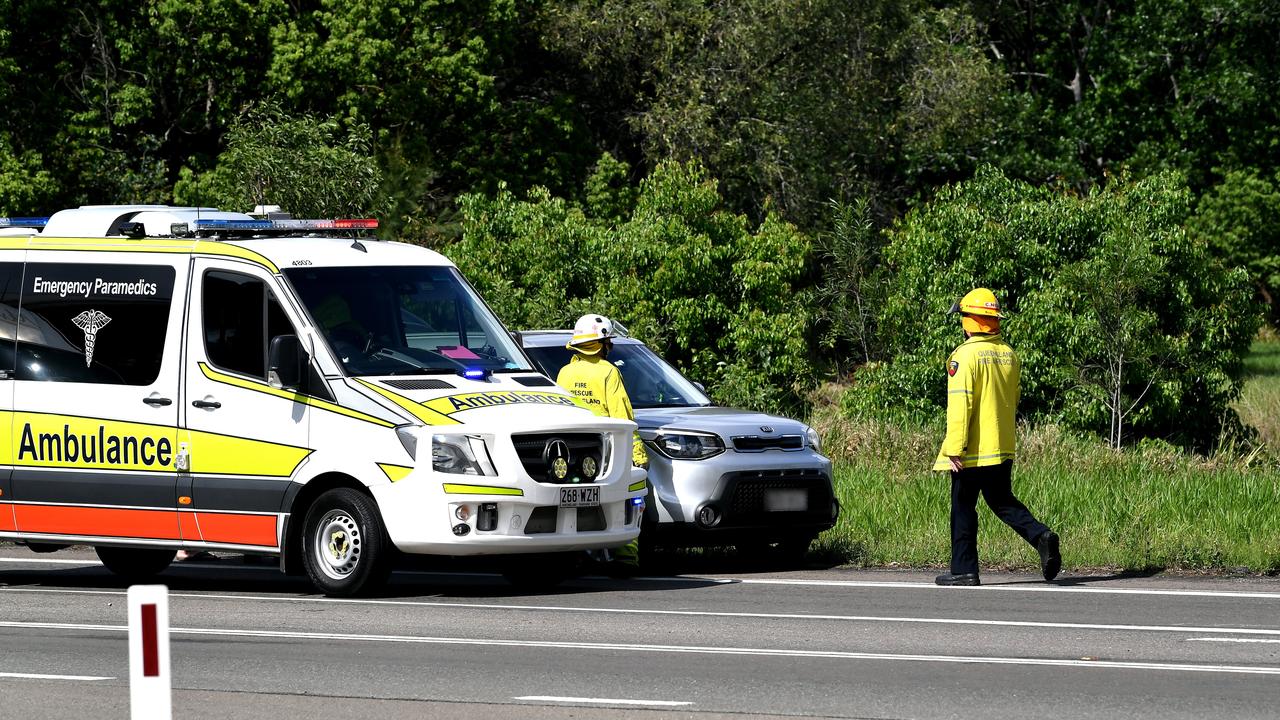
{"type": "Polygon", "coordinates": [[[29,539],[180,539],[189,261],[104,246],[28,251],[9,437],[14,518],[29,539]]]}

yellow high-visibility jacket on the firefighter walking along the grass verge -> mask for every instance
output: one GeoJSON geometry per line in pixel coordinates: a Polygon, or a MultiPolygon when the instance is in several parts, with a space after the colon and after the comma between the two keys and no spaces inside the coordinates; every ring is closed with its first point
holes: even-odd
{"type": "Polygon", "coordinates": [[[975,334],[947,359],[947,437],[933,464],[950,470],[950,456],[965,468],[1014,459],[1018,413],[1018,355],[998,334],[975,334]]]}

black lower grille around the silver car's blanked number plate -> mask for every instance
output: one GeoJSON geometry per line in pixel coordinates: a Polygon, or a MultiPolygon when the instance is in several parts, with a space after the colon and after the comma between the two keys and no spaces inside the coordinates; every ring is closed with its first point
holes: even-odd
{"type": "Polygon", "coordinates": [[[723,478],[724,527],[777,525],[778,523],[820,523],[831,520],[831,478],[820,470],[750,470],[728,473],[723,478]],[[800,489],[806,495],[806,510],[769,511],[765,495],[774,489],[800,489]]]}

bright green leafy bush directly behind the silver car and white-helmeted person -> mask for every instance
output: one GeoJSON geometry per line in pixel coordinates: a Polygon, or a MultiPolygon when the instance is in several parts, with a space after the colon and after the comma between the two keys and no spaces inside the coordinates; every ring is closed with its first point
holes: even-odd
{"type": "Polygon", "coordinates": [[[545,190],[463,196],[445,254],[512,327],[603,313],[718,401],[794,410],[814,378],[808,238],[773,214],[753,232],[698,164],[659,165],[637,193],[625,176],[602,161],[588,210],[545,190]]]}

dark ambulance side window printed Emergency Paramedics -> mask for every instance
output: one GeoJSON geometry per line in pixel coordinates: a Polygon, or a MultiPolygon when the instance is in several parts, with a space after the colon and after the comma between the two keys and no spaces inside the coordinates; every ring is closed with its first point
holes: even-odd
{"type": "Polygon", "coordinates": [[[28,263],[17,378],[154,383],[164,361],[174,275],[168,265],[28,263]]]}

